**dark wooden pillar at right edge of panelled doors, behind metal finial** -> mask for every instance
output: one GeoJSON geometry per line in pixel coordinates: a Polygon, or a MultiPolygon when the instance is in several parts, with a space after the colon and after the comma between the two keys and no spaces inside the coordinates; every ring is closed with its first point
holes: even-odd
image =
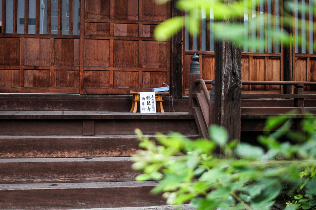
{"type": "MultiPolygon", "coordinates": [[[[177,0],[171,1],[172,17],[182,16],[183,12],[176,8],[177,0]]],[[[171,67],[170,91],[173,98],[182,98],[182,69],[183,69],[183,30],[171,37],[171,67]]]]}

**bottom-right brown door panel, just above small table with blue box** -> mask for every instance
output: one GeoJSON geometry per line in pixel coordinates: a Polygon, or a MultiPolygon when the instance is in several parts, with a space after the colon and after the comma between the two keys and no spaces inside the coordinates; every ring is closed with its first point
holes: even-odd
{"type": "Polygon", "coordinates": [[[143,88],[161,87],[167,81],[167,72],[143,71],[143,88]]]}

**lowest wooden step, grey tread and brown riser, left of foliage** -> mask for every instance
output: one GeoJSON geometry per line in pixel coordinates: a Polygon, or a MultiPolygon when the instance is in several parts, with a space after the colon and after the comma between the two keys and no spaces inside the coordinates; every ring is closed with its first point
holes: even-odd
{"type": "Polygon", "coordinates": [[[165,205],[149,193],[157,181],[0,184],[0,209],[71,209],[165,205]]]}

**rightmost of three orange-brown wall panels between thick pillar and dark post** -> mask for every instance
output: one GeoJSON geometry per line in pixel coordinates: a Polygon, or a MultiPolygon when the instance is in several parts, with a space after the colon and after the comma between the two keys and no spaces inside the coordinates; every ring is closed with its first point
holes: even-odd
{"type": "MultiPolygon", "coordinates": [[[[281,81],[281,58],[280,57],[266,57],[265,68],[266,81],[281,81]]],[[[279,85],[267,85],[266,90],[281,90],[279,85]]]]}

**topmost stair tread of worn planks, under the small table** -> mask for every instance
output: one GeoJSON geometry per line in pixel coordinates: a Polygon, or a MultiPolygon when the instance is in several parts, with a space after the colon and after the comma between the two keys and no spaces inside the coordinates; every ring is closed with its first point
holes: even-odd
{"type": "Polygon", "coordinates": [[[0,119],[193,119],[186,111],[155,114],[129,111],[0,111],[0,119]]]}

